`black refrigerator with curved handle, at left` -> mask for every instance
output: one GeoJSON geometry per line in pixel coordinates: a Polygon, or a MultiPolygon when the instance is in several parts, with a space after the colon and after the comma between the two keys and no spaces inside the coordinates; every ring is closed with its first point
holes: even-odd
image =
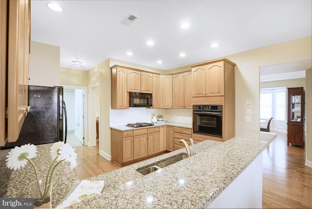
{"type": "Polygon", "coordinates": [[[24,144],[66,143],[67,119],[62,86],[28,86],[28,112],[16,142],[6,143],[1,149],[24,144]]]}

